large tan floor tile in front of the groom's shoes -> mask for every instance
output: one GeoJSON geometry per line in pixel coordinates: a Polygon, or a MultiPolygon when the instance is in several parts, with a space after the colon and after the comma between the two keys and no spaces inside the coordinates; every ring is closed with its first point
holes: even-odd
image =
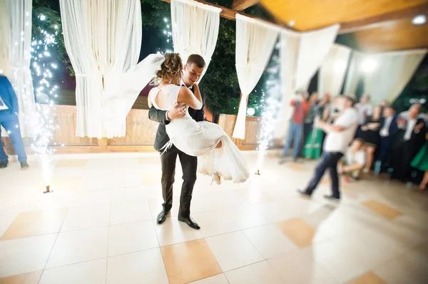
{"type": "Polygon", "coordinates": [[[184,284],[222,273],[205,240],[161,248],[170,284],[184,284]]]}

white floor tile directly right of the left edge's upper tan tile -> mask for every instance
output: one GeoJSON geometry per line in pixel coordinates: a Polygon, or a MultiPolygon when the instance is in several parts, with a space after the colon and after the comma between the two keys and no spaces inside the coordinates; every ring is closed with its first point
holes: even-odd
{"type": "Polygon", "coordinates": [[[61,232],[108,226],[110,204],[68,209],[61,232]]]}

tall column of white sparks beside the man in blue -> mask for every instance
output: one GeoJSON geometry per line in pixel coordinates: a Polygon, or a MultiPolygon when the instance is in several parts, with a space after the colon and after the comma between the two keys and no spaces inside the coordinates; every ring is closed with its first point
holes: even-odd
{"type": "MultiPolygon", "coordinates": [[[[39,15],[40,21],[46,21],[45,15],[39,15]]],[[[54,26],[58,29],[58,26],[54,26]]],[[[54,120],[54,100],[51,98],[58,98],[58,86],[52,83],[54,74],[50,68],[56,69],[58,65],[51,59],[49,52],[52,46],[56,46],[56,36],[58,31],[49,33],[48,31],[39,27],[41,39],[33,37],[31,42],[31,70],[34,80],[34,90],[38,103],[36,103],[36,113],[34,114],[34,121],[32,123],[35,137],[31,148],[34,149],[36,156],[39,157],[42,166],[43,177],[46,184],[46,192],[49,192],[51,184],[51,154],[55,152],[49,145],[54,140],[54,132],[56,129],[54,120]]]]}

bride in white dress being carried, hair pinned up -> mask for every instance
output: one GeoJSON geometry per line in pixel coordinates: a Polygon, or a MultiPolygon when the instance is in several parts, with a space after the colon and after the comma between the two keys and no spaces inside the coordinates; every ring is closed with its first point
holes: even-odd
{"type": "Polygon", "coordinates": [[[245,182],[250,177],[248,165],[223,129],[211,122],[196,122],[188,114],[188,107],[200,110],[203,100],[197,83],[193,85],[194,94],[180,86],[182,70],[183,63],[178,53],[165,53],[161,70],[156,72],[157,86],[148,95],[149,107],[153,105],[158,110],[171,110],[175,103],[186,105],[185,115],[166,125],[170,141],[162,151],[174,145],[185,154],[199,157],[198,172],[212,176],[217,184],[221,179],[245,182]]]}

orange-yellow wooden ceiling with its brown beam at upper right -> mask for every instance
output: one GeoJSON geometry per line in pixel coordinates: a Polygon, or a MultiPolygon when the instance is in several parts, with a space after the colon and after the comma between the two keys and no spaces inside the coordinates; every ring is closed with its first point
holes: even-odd
{"type": "Polygon", "coordinates": [[[414,16],[428,17],[428,0],[234,0],[233,9],[255,4],[297,31],[340,23],[342,43],[360,51],[428,48],[428,23],[412,24],[414,16]]]}

